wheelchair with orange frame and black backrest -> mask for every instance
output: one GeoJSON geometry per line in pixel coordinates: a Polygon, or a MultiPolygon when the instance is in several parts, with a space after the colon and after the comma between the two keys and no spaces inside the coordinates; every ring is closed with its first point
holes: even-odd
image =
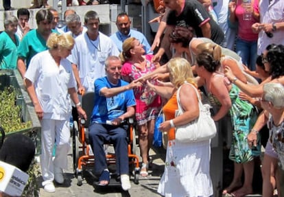
{"type": "MultiPolygon", "coordinates": [[[[95,161],[93,151],[91,150],[91,146],[89,145],[88,141],[88,126],[90,124],[90,119],[93,112],[94,97],[94,92],[88,92],[82,95],[82,108],[86,112],[88,119],[86,121],[84,119],[79,119],[78,122],[73,121],[73,169],[78,180],[78,186],[82,185],[84,170],[86,170],[88,166],[93,167],[95,161]]],[[[135,154],[136,137],[133,119],[128,119],[128,124],[130,125],[128,129],[128,159],[130,165],[129,169],[131,170],[130,176],[134,176],[134,183],[139,184],[140,167],[139,157],[137,154],[135,154]]],[[[106,153],[106,160],[108,165],[115,164],[115,154],[106,153]]],[[[119,178],[117,178],[117,182],[118,180],[119,178]]]]}

